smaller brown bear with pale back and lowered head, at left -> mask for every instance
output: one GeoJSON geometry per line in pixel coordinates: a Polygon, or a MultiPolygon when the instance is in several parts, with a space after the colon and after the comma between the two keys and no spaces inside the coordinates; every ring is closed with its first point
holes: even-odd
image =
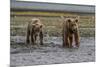
{"type": "Polygon", "coordinates": [[[43,45],[42,26],[43,25],[38,18],[33,18],[30,22],[28,22],[26,36],[27,44],[32,43],[34,45],[36,43],[37,37],[39,37],[40,45],[43,45]]]}

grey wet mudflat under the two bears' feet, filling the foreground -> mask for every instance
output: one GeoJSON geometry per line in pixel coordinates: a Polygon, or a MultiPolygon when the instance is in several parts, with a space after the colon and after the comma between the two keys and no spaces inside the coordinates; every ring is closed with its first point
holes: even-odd
{"type": "Polygon", "coordinates": [[[61,37],[45,37],[44,45],[25,44],[25,37],[11,37],[11,66],[95,62],[95,38],[81,37],[79,48],[62,47],[61,37]]]}

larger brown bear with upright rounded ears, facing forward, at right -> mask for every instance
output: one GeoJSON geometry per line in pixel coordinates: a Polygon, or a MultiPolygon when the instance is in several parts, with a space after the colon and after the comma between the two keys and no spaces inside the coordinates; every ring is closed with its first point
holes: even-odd
{"type": "Polygon", "coordinates": [[[63,23],[63,47],[72,48],[73,39],[75,40],[75,46],[79,47],[80,44],[80,36],[79,36],[79,28],[78,22],[79,18],[64,18],[63,23]]]}

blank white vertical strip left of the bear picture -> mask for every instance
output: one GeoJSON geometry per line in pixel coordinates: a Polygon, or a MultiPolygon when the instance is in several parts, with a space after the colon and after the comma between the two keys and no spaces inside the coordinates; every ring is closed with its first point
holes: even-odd
{"type": "Polygon", "coordinates": [[[10,1],[0,1],[0,67],[9,66],[10,1]]]}

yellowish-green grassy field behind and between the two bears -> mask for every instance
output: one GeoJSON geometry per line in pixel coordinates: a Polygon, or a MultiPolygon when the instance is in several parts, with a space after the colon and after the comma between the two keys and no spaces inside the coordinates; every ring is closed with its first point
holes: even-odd
{"type": "MultiPolygon", "coordinates": [[[[14,13],[11,13],[14,14],[14,13]]],[[[21,15],[21,13],[16,13],[17,15],[21,15]]],[[[15,14],[15,15],[16,15],[15,14]]],[[[24,12],[23,14],[34,14],[24,12]]],[[[42,14],[41,12],[39,14],[42,14]]],[[[50,15],[50,13],[46,13],[50,15]]],[[[64,13],[62,13],[64,14],[64,13]]],[[[53,16],[37,16],[41,19],[41,22],[44,24],[44,36],[48,34],[49,36],[61,36],[62,35],[62,20],[60,13],[53,13],[53,16]],[[59,15],[59,17],[57,17],[59,15]]],[[[35,14],[36,15],[36,14],[35,14]]],[[[71,14],[66,14],[71,15],[71,14]]],[[[73,15],[73,14],[72,14],[73,15]]],[[[75,15],[75,14],[74,14],[75,15]]],[[[95,36],[95,18],[93,15],[79,15],[79,30],[81,36],[91,37],[95,36]]],[[[11,16],[11,36],[25,36],[26,35],[26,27],[27,22],[30,21],[35,16],[11,16]]]]}

